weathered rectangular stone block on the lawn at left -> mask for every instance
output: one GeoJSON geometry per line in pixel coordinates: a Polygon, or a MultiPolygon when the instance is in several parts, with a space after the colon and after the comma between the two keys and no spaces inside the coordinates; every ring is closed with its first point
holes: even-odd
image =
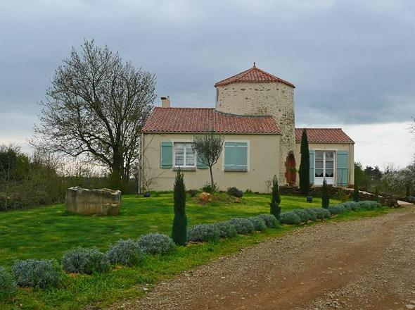
{"type": "Polygon", "coordinates": [[[66,211],[95,216],[120,214],[121,192],[119,190],[87,190],[70,187],[66,192],[66,211]]]}

